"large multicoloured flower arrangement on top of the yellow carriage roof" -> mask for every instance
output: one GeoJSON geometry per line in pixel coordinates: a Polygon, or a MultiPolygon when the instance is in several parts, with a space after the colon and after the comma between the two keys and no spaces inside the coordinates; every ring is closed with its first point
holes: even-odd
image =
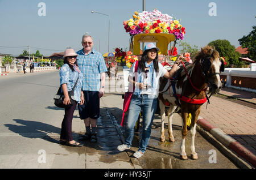
{"type": "Polygon", "coordinates": [[[179,20],[172,18],[168,14],[162,14],[158,10],[152,12],[143,11],[134,12],[133,18],[123,22],[125,31],[130,35],[139,33],[170,33],[175,35],[176,39],[183,40],[185,28],[182,27],[179,20]]]}

